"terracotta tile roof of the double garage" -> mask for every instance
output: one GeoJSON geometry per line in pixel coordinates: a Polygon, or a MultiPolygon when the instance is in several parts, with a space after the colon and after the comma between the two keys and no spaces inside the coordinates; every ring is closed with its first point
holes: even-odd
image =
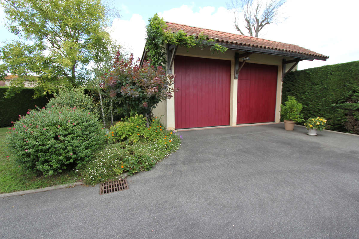
{"type": "MultiPolygon", "coordinates": [[[[297,53],[306,56],[311,56],[316,59],[326,60],[329,58],[328,56],[324,56],[322,54],[313,52],[303,47],[299,47],[293,44],[287,44],[282,42],[274,42],[271,40],[255,38],[255,37],[247,37],[244,35],[238,35],[227,32],[219,32],[215,30],[205,29],[205,28],[197,28],[190,27],[183,24],[170,23],[166,22],[167,28],[165,30],[178,32],[179,30],[183,30],[187,35],[195,35],[198,36],[200,34],[207,35],[209,39],[214,39],[217,42],[229,43],[232,45],[239,46],[247,46],[251,48],[260,48],[260,49],[270,49],[278,52],[282,52],[285,55],[285,52],[288,53],[297,53]]],[[[303,56],[304,57],[304,56],[303,56]]]]}

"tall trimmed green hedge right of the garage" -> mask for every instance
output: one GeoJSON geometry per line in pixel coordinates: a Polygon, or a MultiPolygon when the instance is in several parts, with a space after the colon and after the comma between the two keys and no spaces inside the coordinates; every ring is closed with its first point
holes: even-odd
{"type": "Polygon", "coordinates": [[[282,102],[295,96],[303,104],[305,119],[321,116],[328,120],[328,129],[358,134],[352,130],[359,124],[353,122],[358,112],[339,105],[350,101],[358,86],[359,61],[290,72],[284,78],[282,102]]]}

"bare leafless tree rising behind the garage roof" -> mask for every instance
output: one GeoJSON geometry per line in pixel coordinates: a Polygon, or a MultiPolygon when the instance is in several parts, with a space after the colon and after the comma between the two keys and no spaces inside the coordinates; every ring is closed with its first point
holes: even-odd
{"type": "Polygon", "coordinates": [[[286,0],[231,0],[227,3],[228,10],[234,14],[234,26],[242,34],[243,31],[239,27],[241,15],[243,12],[244,21],[248,34],[258,37],[258,33],[265,25],[276,23],[278,21],[279,9],[285,4],[286,0]]]}

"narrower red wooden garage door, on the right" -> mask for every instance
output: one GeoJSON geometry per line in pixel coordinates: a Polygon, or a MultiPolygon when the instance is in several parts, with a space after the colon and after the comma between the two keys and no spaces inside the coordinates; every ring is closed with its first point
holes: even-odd
{"type": "Polygon", "coordinates": [[[245,63],[238,76],[237,124],[272,122],[277,66],[245,63]]]}

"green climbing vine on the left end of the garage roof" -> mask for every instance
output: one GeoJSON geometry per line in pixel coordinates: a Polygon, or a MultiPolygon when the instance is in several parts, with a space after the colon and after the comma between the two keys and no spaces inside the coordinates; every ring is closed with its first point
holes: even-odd
{"type": "Polygon", "coordinates": [[[191,47],[205,47],[210,46],[212,53],[214,52],[225,52],[227,47],[224,47],[215,42],[213,39],[208,39],[206,35],[199,36],[187,36],[183,30],[178,32],[164,31],[167,27],[165,21],[155,14],[152,18],[149,19],[149,23],[146,26],[147,29],[147,42],[145,49],[147,51],[147,56],[151,59],[154,66],[164,66],[166,63],[165,48],[167,43],[175,46],[183,46],[186,48],[191,47]]]}

